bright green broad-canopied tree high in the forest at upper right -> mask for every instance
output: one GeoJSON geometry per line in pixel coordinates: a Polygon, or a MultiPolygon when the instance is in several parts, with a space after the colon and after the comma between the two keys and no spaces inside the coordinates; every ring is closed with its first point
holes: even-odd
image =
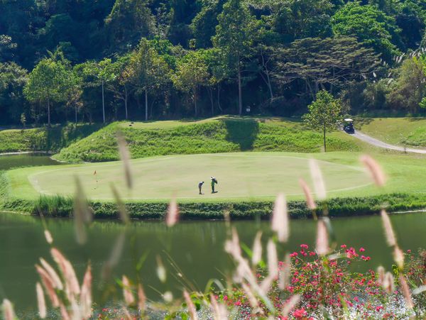
{"type": "Polygon", "coordinates": [[[348,2],[332,17],[332,28],[334,34],[355,36],[388,62],[399,54],[398,46],[403,47],[395,18],[376,6],[348,2]]]}

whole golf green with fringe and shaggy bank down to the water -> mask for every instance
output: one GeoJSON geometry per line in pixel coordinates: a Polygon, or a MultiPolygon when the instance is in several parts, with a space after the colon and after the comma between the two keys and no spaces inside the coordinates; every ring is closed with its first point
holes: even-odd
{"type": "Polygon", "coordinates": [[[307,217],[310,211],[297,180],[304,177],[312,187],[307,165],[311,157],[320,160],[332,216],[374,214],[383,204],[390,211],[426,206],[424,156],[393,153],[373,156],[386,170],[386,187],[374,187],[366,172],[360,170],[359,153],[349,152],[229,153],[132,160],[131,192],[126,192],[121,162],[21,168],[0,172],[0,209],[70,216],[77,175],[99,218],[117,216],[109,190],[112,183],[126,198],[126,207],[133,218],[163,217],[173,196],[178,198],[183,219],[221,219],[224,211],[236,219],[266,218],[278,192],[288,196],[293,217],[307,217]],[[209,175],[219,180],[217,194],[209,193],[209,175]],[[204,195],[197,192],[200,180],[207,184],[204,195]]]}

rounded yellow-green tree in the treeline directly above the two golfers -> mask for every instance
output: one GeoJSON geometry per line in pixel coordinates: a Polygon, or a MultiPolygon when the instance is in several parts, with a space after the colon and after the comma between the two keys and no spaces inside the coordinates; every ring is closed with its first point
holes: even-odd
{"type": "Polygon", "coordinates": [[[192,94],[196,117],[198,115],[197,92],[202,85],[207,84],[208,80],[207,64],[199,53],[192,51],[178,61],[173,83],[183,92],[192,94]]]}

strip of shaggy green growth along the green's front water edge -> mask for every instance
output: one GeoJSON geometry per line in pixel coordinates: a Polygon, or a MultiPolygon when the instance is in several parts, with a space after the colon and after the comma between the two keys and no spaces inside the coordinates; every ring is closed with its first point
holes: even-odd
{"type": "MultiPolygon", "coordinates": [[[[426,207],[424,194],[383,194],[373,197],[332,198],[327,201],[329,216],[363,216],[377,214],[383,204],[388,211],[413,210],[426,207]]],[[[131,202],[126,209],[132,219],[163,219],[167,209],[165,202],[131,202]]],[[[118,209],[113,202],[89,202],[96,219],[118,219],[118,209]]],[[[179,204],[181,219],[224,219],[224,212],[229,212],[231,219],[268,219],[273,202],[218,202],[179,204]]],[[[310,218],[312,212],[304,201],[288,202],[290,216],[293,219],[310,218]]],[[[71,197],[41,196],[36,200],[3,197],[0,199],[0,211],[24,212],[32,215],[70,217],[72,211],[71,197]]]]}

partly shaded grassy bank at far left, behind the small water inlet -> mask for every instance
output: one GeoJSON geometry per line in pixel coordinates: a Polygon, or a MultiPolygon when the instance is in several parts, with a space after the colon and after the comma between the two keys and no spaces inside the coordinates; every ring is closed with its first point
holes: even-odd
{"type": "Polygon", "coordinates": [[[22,151],[58,152],[99,130],[99,125],[53,126],[52,128],[11,129],[0,131],[0,153],[22,151]]]}

